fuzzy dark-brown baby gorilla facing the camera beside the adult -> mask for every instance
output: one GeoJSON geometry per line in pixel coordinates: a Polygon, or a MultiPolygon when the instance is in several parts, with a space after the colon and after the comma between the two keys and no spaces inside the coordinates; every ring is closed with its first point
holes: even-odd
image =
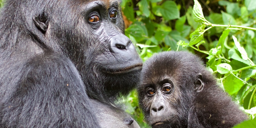
{"type": "Polygon", "coordinates": [[[143,65],[140,107],[153,128],[230,128],[247,116],[188,52],[162,52],[143,65]]]}

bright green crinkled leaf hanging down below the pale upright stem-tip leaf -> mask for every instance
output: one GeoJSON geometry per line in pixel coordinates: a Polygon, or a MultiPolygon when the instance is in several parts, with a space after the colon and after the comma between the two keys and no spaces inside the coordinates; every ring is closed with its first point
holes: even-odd
{"type": "Polygon", "coordinates": [[[203,40],[204,38],[204,28],[205,28],[205,25],[202,24],[202,25],[199,25],[196,30],[190,34],[190,43],[189,45],[194,45],[194,44],[197,44],[198,42],[200,42],[201,40],[203,40]]]}

